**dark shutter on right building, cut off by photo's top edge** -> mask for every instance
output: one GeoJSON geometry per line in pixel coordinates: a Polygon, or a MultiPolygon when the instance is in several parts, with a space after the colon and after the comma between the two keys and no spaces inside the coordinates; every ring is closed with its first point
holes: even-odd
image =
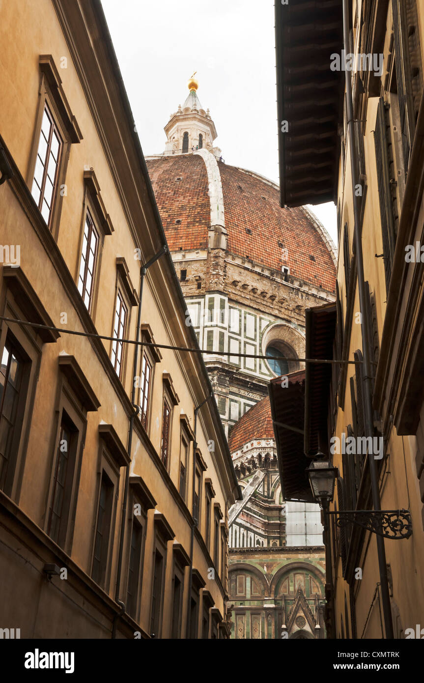
{"type": "Polygon", "coordinates": [[[408,23],[406,20],[405,0],[392,0],[393,35],[395,40],[395,66],[397,96],[401,120],[402,152],[404,169],[408,171],[410,148],[414,139],[414,104],[410,79],[410,59],[408,47],[408,23]]]}

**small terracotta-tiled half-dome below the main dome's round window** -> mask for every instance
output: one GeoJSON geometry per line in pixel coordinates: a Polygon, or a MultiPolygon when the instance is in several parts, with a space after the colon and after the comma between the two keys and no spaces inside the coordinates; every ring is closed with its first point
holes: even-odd
{"type": "Polygon", "coordinates": [[[268,396],[249,408],[231,429],[228,436],[229,452],[234,453],[246,443],[261,438],[275,438],[268,396]]]}

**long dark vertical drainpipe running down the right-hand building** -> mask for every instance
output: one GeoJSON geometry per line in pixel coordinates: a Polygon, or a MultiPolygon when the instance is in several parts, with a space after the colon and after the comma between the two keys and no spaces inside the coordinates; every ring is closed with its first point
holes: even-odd
{"type": "MultiPolygon", "coordinates": [[[[349,0],[343,0],[343,42],[345,54],[350,53],[349,40],[349,0]]],[[[350,79],[350,71],[345,70],[346,81],[346,105],[348,113],[348,130],[349,130],[349,148],[350,148],[350,169],[352,173],[352,196],[354,208],[354,240],[356,247],[356,268],[358,273],[358,294],[359,294],[359,308],[361,310],[361,321],[366,320],[366,305],[365,305],[365,276],[363,263],[363,249],[362,239],[359,232],[360,229],[360,210],[358,197],[355,194],[356,182],[356,164],[355,164],[355,132],[354,132],[354,111],[352,102],[352,81],[350,79]]],[[[368,326],[361,322],[362,333],[362,352],[363,352],[363,397],[365,406],[365,436],[373,436],[373,409],[371,404],[371,359],[369,355],[369,339],[368,326]]],[[[378,486],[378,471],[376,460],[368,456],[369,472],[371,477],[371,492],[373,509],[381,510],[380,504],[380,490],[378,486]]],[[[393,639],[393,622],[391,613],[390,596],[388,591],[387,566],[386,566],[386,550],[384,549],[384,538],[376,534],[378,568],[380,570],[380,584],[382,593],[382,606],[384,615],[384,630],[386,639],[393,639]]]]}

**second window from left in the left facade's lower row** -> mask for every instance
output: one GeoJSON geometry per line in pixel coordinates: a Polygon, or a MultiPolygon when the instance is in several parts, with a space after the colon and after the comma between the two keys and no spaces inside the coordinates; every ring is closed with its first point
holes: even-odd
{"type": "Polygon", "coordinates": [[[76,426],[63,410],[47,527],[48,535],[60,546],[66,541],[78,436],[76,426]]]}

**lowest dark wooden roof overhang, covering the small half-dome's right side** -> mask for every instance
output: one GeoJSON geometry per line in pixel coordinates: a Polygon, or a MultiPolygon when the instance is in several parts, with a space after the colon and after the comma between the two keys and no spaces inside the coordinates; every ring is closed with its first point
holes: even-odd
{"type": "Polygon", "coordinates": [[[292,372],[287,378],[287,387],[281,385],[281,377],[271,380],[268,385],[281,490],[285,501],[313,503],[305,473],[309,460],[303,451],[305,370],[292,372]]]}

